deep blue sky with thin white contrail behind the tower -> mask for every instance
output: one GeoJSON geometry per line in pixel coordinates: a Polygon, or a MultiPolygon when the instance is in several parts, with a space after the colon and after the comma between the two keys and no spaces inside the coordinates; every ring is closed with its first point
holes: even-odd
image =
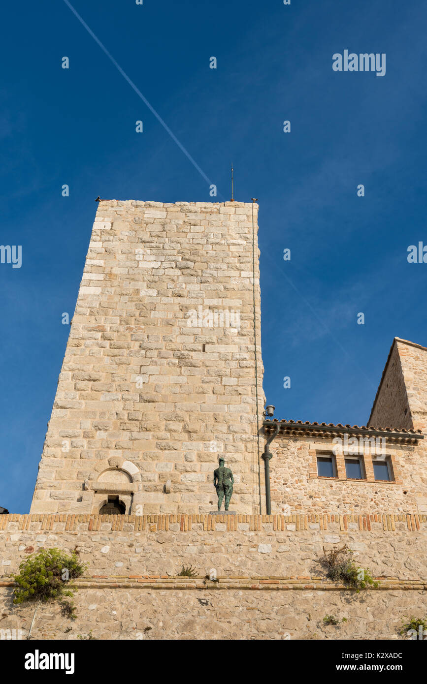
{"type": "MultiPolygon", "coordinates": [[[[427,244],[425,3],[72,5],[218,200],[230,197],[231,161],[235,198],[259,198],[264,389],[276,417],[365,424],[393,337],[427,345],[427,265],[406,259],[427,244]],[[385,53],[385,76],[334,72],[345,49],[385,53]]],[[[0,53],[0,243],[23,250],[21,268],[0,264],[0,505],[27,512],[94,199],[212,198],[63,0],[5,5],[0,53]]]]}

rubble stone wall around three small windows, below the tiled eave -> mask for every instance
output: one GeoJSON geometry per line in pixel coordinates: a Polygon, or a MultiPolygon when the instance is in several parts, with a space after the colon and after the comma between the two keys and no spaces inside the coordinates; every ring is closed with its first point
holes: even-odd
{"type": "Polygon", "coordinates": [[[386,456],[393,466],[393,482],[374,480],[372,454],[363,454],[366,479],[346,479],[344,456],[335,456],[338,477],[318,477],[317,456],[333,455],[332,438],[279,436],[270,447],[272,512],[305,510],[314,513],[426,512],[427,454],[424,441],[396,444],[386,438],[386,456]]]}

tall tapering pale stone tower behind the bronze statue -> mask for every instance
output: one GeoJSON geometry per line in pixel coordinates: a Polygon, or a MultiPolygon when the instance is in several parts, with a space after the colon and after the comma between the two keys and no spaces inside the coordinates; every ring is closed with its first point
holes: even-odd
{"type": "Polygon", "coordinates": [[[99,202],[31,513],[260,512],[257,210],[99,202]]]}

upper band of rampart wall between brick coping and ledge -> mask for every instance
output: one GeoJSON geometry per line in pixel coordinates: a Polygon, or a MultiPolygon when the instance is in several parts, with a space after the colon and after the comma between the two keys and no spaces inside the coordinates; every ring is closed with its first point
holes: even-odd
{"type": "Polygon", "coordinates": [[[340,530],[343,516],[338,515],[334,521],[326,521],[327,529],[319,530],[308,525],[305,529],[305,517],[309,516],[295,516],[299,529],[293,531],[285,529],[283,516],[222,516],[199,516],[200,522],[192,520],[198,516],[186,515],[111,516],[112,521],[105,522],[101,518],[110,516],[63,516],[62,521],[49,521],[49,534],[39,533],[51,516],[0,516],[0,525],[4,525],[0,529],[0,560],[8,563],[0,575],[6,577],[18,570],[31,542],[36,551],[42,547],[71,551],[77,546],[81,559],[89,564],[90,575],[117,575],[120,567],[120,575],[176,577],[183,564],[192,564],[201,577],[209,575],[211,568],[224,577],[311,577],[322,574],[317,560],[323,547],[331,549],[332,540],[339,538],[339,545],[347,544],[357,563],[369,567],[374,575],[427,583],[427,516],[419,516],[424,518],[419,520],[419,530],[409,529],[406,516],[392,516],[395,529],[384,529],[384,520],[391,517],[384,516],[372,521],[370,531],[364,531],[363,525],[362,529],[340,530]],[[18,520],[9,520],[14,517],[18,520]],[[87,519],[79,521],[79,517],[87,519]],[[262,521],[262,517],[266,519],[262,521]],[[29,529],[18,529],[24,523],[29,529]]]}

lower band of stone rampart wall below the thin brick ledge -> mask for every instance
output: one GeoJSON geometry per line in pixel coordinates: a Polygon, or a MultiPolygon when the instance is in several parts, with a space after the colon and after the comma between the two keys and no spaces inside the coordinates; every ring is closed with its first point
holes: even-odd
{"type": "MultiPolygon", "coordinates": [[[[11,589],[0,588],[0,621],[5,638],[25,639],[34,606],[10,609],[11,589]],[[8,632],[10,630],[10,632],[8,632]]],[[[424,616],[425,590],[354,594],[325,590],[247,591],[233,588],[80,588],[77,620],[43,605],[31,639],[75,640],[311,640],[401,639],[406,616],[424,616]],[[334,615],[339,624],[325,627],[334,615]],[[346,622],[342,622],[342,620],[346,622]]]]}

